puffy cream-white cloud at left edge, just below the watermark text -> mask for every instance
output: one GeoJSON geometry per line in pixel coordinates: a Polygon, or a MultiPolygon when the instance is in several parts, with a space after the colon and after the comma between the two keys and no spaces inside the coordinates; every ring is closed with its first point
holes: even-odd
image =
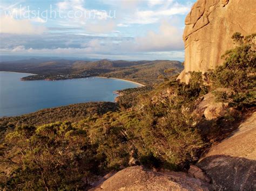
{"type": "Polygon", "coordinates": [[[11,17],[1,17],[0,21],[0,33],[42,34],[46,31],[46,27],[32,25],[29,19],[17,20],[11,17]]]}

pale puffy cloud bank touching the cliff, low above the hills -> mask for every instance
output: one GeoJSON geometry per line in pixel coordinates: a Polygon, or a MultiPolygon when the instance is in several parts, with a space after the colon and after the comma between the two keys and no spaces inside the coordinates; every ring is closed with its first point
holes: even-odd
{"type": "Polygon", "coordinates": [[[113,38],[104,40],[91,40],[82,47],[93,53],[136,53],[136,52],[166,52],[180,51],[184,49],[182,30],[172,26],[165,20],[161,23],[158,32],[149,31],[146,36],[117,39],[113,38]]]}

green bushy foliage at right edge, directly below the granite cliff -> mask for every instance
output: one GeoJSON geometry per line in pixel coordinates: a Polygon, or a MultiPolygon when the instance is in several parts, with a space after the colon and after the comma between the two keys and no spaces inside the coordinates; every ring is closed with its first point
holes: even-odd
{"type": "Polygon", "coordinates": [[[243,37],[234,33],[232,39],[237,47],[227,51],[222,58],[223,66],[208,73],[214,88],[229,88],[234,91],[230,97],[234,105],[252,107],[256,103],[256,34],[243,37]]]}

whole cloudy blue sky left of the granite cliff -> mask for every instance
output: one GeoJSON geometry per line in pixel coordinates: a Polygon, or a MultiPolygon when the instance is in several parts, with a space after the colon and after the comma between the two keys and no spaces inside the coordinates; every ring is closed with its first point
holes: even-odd
{"type": "Polygon", "coordinates": [[[1,55],[184,60],[196,0],[0,1],[1,55]]]}

